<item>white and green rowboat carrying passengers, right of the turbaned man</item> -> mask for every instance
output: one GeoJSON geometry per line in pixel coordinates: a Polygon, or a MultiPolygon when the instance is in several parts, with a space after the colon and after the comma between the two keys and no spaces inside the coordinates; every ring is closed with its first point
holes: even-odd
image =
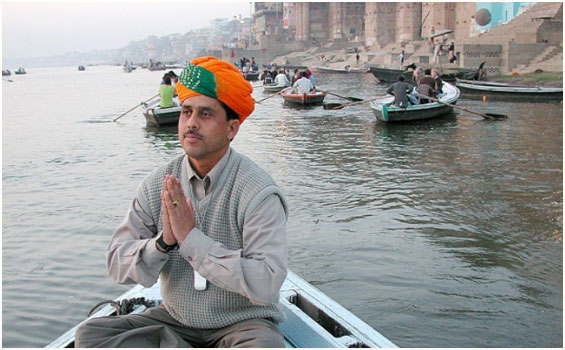
{"type": "MultiPolygon", "coordinates": [[[[443,84],[443,94],[438,99],[444,103],[455,104],[459,99],[459,89],[450,84],[443,84]]],[[[403,122],[438,117],[453,111],[453,107],[440,102],[410,105],[405,108],[392,105],[394,96],[372,101],[370,107],[381,122],[403,122]]]]}

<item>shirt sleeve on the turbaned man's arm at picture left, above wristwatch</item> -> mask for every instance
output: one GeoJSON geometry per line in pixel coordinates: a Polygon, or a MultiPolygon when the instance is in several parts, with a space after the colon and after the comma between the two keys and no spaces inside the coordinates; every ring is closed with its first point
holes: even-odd
{"type": "Polygon", "coordinates": [[[120,284],[139,283],[150,287],[168,260],[168,254],[157,250],[159,235],[146,201],[135,198],[118,226],[106,252],[108,274],[120,284]]]}

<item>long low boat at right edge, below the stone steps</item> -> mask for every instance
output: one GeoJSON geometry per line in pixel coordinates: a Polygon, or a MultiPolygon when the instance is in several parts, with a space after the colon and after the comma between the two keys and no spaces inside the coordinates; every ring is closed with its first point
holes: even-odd
{"type": "Polygon", "coordinates": [[[456,85],[463,94],[493,96],[501,99],[523,99],[532,97],[528,102],[537,100],[563,100],[563,88],[542,86],[519,86],[505,83],[458,80],[456,85]]]}

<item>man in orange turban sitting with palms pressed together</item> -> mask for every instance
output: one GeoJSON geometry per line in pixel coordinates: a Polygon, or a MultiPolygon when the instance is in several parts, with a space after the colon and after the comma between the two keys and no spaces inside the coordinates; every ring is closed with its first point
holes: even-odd
{"type": "Polygon", "coordinates": [[[253,88],[214,57],[193,59],[176,87],[184,152],[141,182],[106,252],[116,282],[160,279],[163,303],[91,319],[75,346],[282,348],[287,204],[271,176],[230,147],[254,110],[253,88]]]}

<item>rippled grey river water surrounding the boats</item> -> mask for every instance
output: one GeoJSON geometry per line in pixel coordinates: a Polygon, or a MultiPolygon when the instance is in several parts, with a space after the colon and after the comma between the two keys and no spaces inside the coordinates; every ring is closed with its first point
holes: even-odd
{"type": "MultiPolygon", "coordinates": [[[[105,248],[140,180],[182,149],[141,109],[112,119],[162,74],[3,79],[4,347],[45,346],[130,288],[106,275],[105,248]]],[[[386,88],[370,74],[317,84],[360,98],[386,88]]],[[[276,96],[233,147],[287,194],[289,267],[397,345],[561,347],[563,105],[458,104],[509,118],[385,125],[367,105],[294,109],[276,96]]]]}

